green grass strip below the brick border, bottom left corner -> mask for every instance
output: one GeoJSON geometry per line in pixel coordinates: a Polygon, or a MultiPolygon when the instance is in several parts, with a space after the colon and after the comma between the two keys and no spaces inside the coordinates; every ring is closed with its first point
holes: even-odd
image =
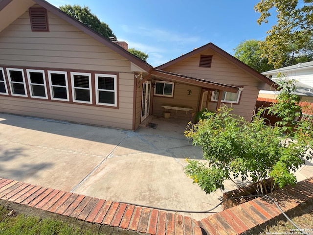
{"type": "Polygon", "coordinates": [[[0,205],[1,235],[99,235],[61,220],[40,219],[23,214],[8,216],[9,212],[0,205]]]}

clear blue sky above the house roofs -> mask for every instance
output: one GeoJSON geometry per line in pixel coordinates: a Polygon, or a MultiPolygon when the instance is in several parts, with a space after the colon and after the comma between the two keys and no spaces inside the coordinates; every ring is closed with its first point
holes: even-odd
{"type": "Polygon", "coordinates": [[[126,41],[149,55],[147,62],[158,66],[213,43],[233,54],[233,48],[250,39],[264,40],[276,23],[256,23],[253,9],[259,0],[47,0],[89,6],[108,24],[119,41],[126,41]]]}

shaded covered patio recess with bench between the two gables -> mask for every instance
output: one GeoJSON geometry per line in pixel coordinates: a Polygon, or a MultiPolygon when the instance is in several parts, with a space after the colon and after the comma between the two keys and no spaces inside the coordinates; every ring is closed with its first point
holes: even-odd
{"type": "Polygon", "coordinates": [[[137,89],[141,87],[140,126],[149,123],[151,116],[193,121],[195,113],[203,108],[218,110],[224,92],[236,94],[242,89],[156,69],[138,80],[137,89]],[[211,100],[213,92],[217,94],[214,101],[211,100]]]}

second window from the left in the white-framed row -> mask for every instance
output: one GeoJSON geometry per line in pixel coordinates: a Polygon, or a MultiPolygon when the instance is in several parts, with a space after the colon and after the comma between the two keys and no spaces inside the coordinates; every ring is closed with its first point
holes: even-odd
{"type": "Polygon", "coordinates": [[[12,95],[27,96],[24,72],[22,69],[6,69],[12,95]]]}

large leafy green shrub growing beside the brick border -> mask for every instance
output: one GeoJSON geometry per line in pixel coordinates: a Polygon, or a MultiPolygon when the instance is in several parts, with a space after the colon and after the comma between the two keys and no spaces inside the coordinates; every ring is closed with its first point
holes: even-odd
{"type": "Polygon", "coordinates": [[[246,121],[231,115],[226,106],[215,114],[206,113],[206,119],[197,124],[190,124],[185,135],[193,144],[202,146],[206,160],[203,163],[186,159],[185,173],[193,183],[206,193],[224,189],[224,180],[231,180],[232,176],[242,180],[251,177],[259,193],[295,184],[291,171],[304,164],[304,157],[312,159],[309,146],[313,144],[313,123],[311,119],[293,121],[301,115],[293,89],[292,82],[281,82],[278,102],[268,110],[270,114],[280,113],[282,118],[274,126],[266,125],[260,116],[246,121]],[[266,179],[271,181],[269,190],[265,187],[266,179]]]}

